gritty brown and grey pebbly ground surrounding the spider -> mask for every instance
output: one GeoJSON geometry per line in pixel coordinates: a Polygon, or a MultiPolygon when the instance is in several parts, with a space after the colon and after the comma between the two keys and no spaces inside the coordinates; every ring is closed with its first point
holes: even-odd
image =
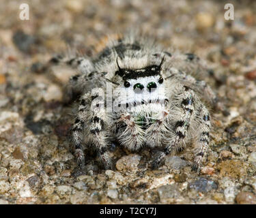
{"type": "Polygon", "coordinates": [[[256,204],[256,2],[0,1],[0,204],[256,204]],[[150,170],[152,153],[113,146],[117,170],[77,178],[67,140],[72,120],[61,86],[70,71],[44,67],[72,49],[93,55],[106,34],[140,29],[169,48],[208,61],[206,78],[229,113],[212,112],[210,151],[200,174],[184,151],[150,170]]]}

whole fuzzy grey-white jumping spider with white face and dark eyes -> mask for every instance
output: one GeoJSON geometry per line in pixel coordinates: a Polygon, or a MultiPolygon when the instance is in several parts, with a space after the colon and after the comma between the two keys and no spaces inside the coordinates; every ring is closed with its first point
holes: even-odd
{"type": "MultiPolygon", "coordinates": [[[[55,62],[64,61],[63,58],[55,62]]],[[[112,168],[113,141],[130,151],[158,148],[156,168],[166,155],[197,146],[194,167],[200,166],[209,144],[210,114],[201,98],[216,95],[192,74],[207,69],[193,54],[181,55],[158,48],[137,37],[119,37],[96,57],[64,61],[80,73],[70,78],[66,96],[81,95],[71,130],[72,151],[79,166],[85,147],[97,151],[106,169],[112,168]]]]}

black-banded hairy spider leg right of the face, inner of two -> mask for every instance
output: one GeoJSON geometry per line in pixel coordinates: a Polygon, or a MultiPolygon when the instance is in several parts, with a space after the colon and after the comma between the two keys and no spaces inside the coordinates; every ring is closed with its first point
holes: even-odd
{"type": "Polygon", "coordinates": [[[186,133],[188,130],[188,126],[190,123],[190,118],[193,114],[194,111],[194,99],[195,99],[195,94],[194,91],[188,87],[183,87],[182,88],[182,94],[180,97],[181,98],[179,108],[180,108],[180,119],[175,123],[175,135],[173,138],[171,138],[170,142],[165,146],[164,151],[154,159],[152,163],[152,168],[158,168],[160,166],[160,163],[165,159],[169,153],[175,149],[180,142],[186,137],[186,133]]]}

